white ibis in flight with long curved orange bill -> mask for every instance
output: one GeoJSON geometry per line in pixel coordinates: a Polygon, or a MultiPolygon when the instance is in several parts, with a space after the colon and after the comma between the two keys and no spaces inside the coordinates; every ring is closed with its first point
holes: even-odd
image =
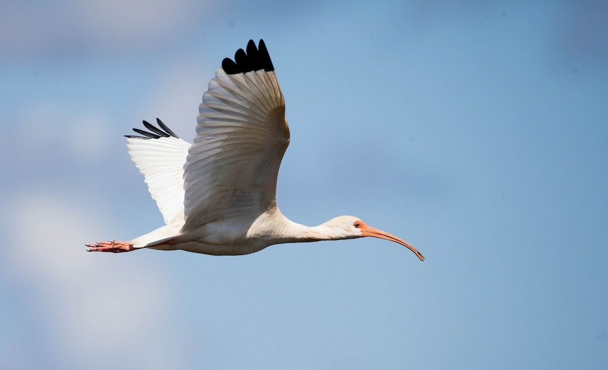
{"type": "Polygon", "coordinates": [[[213,255],[249,254],[278,243],[365,236],[413,246],[353,216],[319,226],[291,222],[276,199],[278,167],[289,145],[285,100],[263,40],[235,60],[224,58],[199,106],[194,144],[159,119],[143,121],[143,136],[127,137],[131,159],[145,176],[165,226],[128,242],[98,242],[89,251],[142,248],[213,255]]]}

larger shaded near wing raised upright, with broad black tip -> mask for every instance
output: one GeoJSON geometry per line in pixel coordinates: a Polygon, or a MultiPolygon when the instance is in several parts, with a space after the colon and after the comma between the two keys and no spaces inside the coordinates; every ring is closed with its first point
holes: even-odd
{"type": "Polygon", "coordinates": [[[182,232],[218,219],[259,215],[275,200],[289,145],[285,100],[264,41],[249,40],[202,96],[194,144],[184,166],[182,232]]]}

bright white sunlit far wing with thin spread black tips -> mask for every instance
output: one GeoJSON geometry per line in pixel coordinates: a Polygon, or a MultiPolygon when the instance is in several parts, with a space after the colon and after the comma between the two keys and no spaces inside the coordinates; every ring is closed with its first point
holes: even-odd
{"type": "Polygon", "coordinates": [[[161,129],[143,121],[151,132],[134,128],[143,136],[125,135],[131,160],[145,176],[167,225],[184,221],[184,164],[190,144],[178,138],[161,120],[161,129]],[[164,131],[163,131],[164,130],[164,131]]]}

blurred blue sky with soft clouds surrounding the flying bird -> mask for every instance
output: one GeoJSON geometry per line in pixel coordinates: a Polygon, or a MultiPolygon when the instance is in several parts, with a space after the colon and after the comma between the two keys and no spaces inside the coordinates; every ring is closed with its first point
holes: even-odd
{"type": "Polygon", "coordinates": [[[608,7],[3,2],[0,368],[608,366],[608,7]],[[123,134],[191,141],[263,38],[294,222],[364,238],[238,257],[85,253],[162,225],[123,134]]]}

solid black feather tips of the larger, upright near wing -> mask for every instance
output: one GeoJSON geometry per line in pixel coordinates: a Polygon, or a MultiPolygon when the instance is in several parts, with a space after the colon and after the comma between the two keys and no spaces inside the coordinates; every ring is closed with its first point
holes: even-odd
{"type": "Polygon", "coordinates": [[[238,49],[234,55],[234,60],[224,58],[222,61],[222,69],[226,74],[239,74],[251,71],[260,71],[263,69],[266,72],[274,71],[270,54],[266,49],[264,40],[260,39],[258,47],[255,46],[254,40],[249,40],[247,43],[247,52],[243,49],[238,49]]]}

